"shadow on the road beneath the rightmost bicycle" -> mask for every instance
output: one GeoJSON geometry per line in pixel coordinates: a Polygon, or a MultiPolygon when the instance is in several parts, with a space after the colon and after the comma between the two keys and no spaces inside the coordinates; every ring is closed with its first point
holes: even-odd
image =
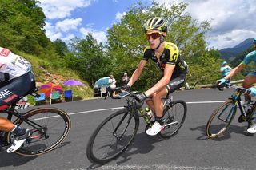
{"type": "MultiPolygon", "coordinates": [[[[217,127],[217,126],[216,126],[217,127]]],[[[214,128],[214,126],[212,126],[214,128]]],[[[216,137],[216,138],[209,138],[206,136],[206,125],[198,126],[197,128],[190,128],[192,131],[201,131],[202,135],[197,137],[197,140],[215,140],[215,141],[221,141],[221,140],[227,140],[231,138],[232,133],[242,134],[244,136],[254,136],[254,134],[250,134],[246,132],[246,125],[238,126],[238,125],[230,125],[230,127],[224,132],[222,135],[216,137]]]]}

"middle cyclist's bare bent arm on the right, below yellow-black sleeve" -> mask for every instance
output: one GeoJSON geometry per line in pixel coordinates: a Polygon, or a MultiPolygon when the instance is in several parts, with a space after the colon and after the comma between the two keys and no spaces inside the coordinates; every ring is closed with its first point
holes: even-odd
{"type": "Polygon", "coordinates": [[[150,97],[152,94],[158,92],[159,90],[164,88],[170,82],[170,77],[174,73],[174,68],[175,68],[175,65],[166,65],[166,68],[164,70],[164,75],[160,79],[160,81],[158,81],[150,89],[146,90],[145,94],[147,97],[150,97]]]}

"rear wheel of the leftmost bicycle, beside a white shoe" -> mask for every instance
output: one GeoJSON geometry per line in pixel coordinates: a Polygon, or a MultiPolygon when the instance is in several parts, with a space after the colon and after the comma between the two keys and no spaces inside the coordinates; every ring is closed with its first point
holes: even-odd
{"type": "MultiPolygon", "coordinates": [[[[22,156],[39,156],[57,148],[70,132],[71,121],[69,115],[62,109],[38,108],[23,114],[26,120],[34,121],[35,127],[18,118],[14,125],[29,128],[32,132],[30,138],[15,153],[22,156]],[[36,124],[35,124],[36,123],[36,124]],[[38,129],[44,131],[40,132],[38,129]],[[59,136],[57,136],[59,135],[59,136]]],[[[14,136],[9,133],[7,140],[12,142],[14,136]]]]}

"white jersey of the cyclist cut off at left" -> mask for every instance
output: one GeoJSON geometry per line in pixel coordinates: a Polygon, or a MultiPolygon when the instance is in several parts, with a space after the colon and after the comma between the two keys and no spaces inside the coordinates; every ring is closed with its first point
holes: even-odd
{"type": "Polygon", "coordinates": [[[0,47],[0,72],[8,73],[9,80],[20,77],[31,70],[31,64],[25,58],[0,47]]]}

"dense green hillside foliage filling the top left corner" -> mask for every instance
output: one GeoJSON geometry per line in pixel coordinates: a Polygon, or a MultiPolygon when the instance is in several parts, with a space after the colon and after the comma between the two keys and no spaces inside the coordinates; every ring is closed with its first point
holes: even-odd
{"type": "Polygon", "coordinates": [[[35,0],[0,0],[0,43],[26,53],[41,53],[46,38],[45,14],[35,0]]]}

